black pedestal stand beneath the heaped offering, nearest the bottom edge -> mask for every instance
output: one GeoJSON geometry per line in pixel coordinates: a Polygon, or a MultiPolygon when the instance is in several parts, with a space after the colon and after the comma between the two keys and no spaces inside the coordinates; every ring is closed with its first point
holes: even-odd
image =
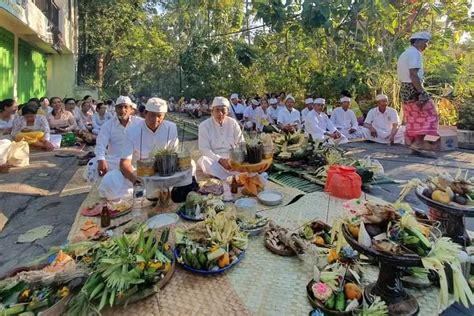
{"type": "Polygon", "coordinates": [[[377,281],[364,289],[365,300],[371,304],[374,296],[380,296],[387,303],[390,315],[416,315],[419,311],[418,303],[405,291],[400,277],[405,268],[422,266],[421,257],[416,254],[390,255],[365,247],[354,239],[347,225],[343,226],[342,232],[352,248],[380,262],[377,281]]]}

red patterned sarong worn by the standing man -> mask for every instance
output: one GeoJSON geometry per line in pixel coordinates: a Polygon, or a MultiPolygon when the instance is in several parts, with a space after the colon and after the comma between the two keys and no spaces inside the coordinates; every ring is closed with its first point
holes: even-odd
{"type": "Polygon", "coordinates": [[[433,100],[427,101],[422,108],[416,102],[403,103],[403,113],[407,137],[438,135],[438,113],[433,100]]]}

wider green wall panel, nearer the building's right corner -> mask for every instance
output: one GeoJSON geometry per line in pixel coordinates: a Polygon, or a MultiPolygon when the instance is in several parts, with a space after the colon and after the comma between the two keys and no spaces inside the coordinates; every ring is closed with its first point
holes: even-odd
{"type": "Polygon", "coordinates": [[[18,42],[18,103],[46,96],[47,59],[25,41],[18,42]]]}

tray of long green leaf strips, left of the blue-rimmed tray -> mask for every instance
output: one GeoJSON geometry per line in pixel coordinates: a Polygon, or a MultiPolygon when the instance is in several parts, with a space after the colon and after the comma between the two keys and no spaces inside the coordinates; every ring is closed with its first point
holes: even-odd
{"type": "Polygon", "coordinates": [[[130,235],[101,243],[81,290],[68,302],[68,315],[87,315],[106,307],[144,299],[171,279],[175,260],[168,244],[169,228],[158,238],[141,227],[130,235]]]}

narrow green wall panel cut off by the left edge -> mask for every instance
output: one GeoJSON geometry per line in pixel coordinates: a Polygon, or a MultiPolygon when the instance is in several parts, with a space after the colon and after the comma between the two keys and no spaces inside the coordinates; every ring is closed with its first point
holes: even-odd
{"type": "Polygon", "coordinates": [[[0,27],[0,100],[13,98],[13,33],[0,27]]]}

